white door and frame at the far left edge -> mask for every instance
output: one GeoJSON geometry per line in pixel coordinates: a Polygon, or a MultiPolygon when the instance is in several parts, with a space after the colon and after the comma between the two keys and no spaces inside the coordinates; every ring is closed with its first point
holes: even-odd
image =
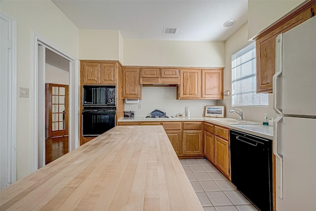
{"type": "Polygon", "coordinates": [[[16,181],[16,21],[0,12],[0,190],[16,181]]]}

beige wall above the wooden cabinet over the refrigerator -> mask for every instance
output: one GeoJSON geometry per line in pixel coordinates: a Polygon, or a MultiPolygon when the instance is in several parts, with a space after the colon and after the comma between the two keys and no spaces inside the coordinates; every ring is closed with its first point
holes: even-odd
{"type": "Polygon", "coordinates": [[[248,0],[248,40],[300,5],[304,0],[248,0]]]}

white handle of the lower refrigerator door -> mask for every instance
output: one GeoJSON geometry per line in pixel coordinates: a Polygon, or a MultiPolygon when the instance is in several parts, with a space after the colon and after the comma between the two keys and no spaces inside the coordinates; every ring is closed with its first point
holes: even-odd
{"type": "Polygon", "coordinates": [[[276,196],[283,199],[283,155],[277,152],[277,144],[278,144],[278,135],[277,135],[277,127],[278,123],[283,120],[282,116],[277,116],[274,121],[273,127],[273,153],[276,156],[276,196]]]}

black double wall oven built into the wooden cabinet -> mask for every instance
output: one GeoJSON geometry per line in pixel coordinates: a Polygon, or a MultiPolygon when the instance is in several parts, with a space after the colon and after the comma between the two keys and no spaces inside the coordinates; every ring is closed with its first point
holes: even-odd
{"type": "Polygon", "coordinates": [[[115,127],[116,86],[83,85],[82,135],[96,136],[115,127]]]}

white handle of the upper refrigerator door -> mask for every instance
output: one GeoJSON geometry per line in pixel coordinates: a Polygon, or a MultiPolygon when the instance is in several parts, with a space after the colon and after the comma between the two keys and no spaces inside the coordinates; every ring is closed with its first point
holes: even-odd
{"type": "Polygon", "coordinates": [[[277,108],[277,77],[282,76],[282,37],[283,34],[276,37],[276,74],[273,76],[272,83],[273,109],[277,114],[282,114],[282,109],[277,108]]]}

